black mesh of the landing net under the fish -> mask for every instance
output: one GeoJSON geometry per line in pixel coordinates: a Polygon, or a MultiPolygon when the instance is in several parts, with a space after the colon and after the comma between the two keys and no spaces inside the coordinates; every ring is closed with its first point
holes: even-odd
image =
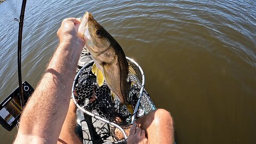
{"type": "MultiPolygon", "coordinates": [[[[142,84],[142,73],[139,67],[127,59],[129,66],[135,71],[135,74],[129,73],[129,81],[132,83],[128,101],[131,103],[133,110],[139,99],[140,89],[142,84]]],[[[92,73],[91,68],[93,61],[81,69],[81,73],[76,79],[75,92],[78,96],[79,106],[90,111],[95,115],[99,115],[102,118],[107,119],[110,122],[114,122],[123,127],[123,129],[129,129],[131,124],[132,114],[128,111],[125,105],[120,105],[119,98],[112,98],[110,89],[106,82],[99,87],[96,76],[92,73]]],[[[135,114],[141,116],[155,110],[156,107],[150,99],[148,93],[144,89],[139,105],[139,110],[135,114]]],[[[114,135],[115,137],[115,135],[114,135]]],[[[118,138],[116,137],[118,140],[118,138]]]]}

